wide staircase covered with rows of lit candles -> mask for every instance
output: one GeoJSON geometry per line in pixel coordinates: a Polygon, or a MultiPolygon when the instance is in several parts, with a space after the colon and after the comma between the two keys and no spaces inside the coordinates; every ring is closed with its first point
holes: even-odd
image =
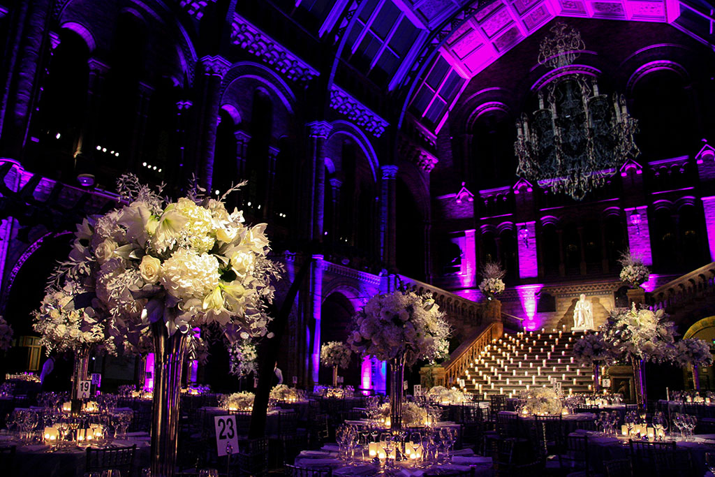
{"type": "Polygon", "coordinates": [[[551,386],[552,379],[561,383],[566,395],[588,393],[593,370],[575,364],[571,353],[581,336],[565,330],[505,333],[484,341],[453,381],[478,399],[491,394],[516,397],[521,391],[551,386]]]}

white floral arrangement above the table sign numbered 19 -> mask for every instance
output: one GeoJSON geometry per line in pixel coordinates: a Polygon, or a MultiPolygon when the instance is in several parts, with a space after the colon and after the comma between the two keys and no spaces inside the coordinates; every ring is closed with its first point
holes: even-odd
{"type": "Polygon", "coordinates": [[[54,350],[79,350],[104,341],[102,320],[91,307],[75,307],[77,295],[72,288],[68,283],[64,288],[50,289],[33,313],[32,328],[41,334],[40,345],[46,347],[48,355],[54,350]]]}

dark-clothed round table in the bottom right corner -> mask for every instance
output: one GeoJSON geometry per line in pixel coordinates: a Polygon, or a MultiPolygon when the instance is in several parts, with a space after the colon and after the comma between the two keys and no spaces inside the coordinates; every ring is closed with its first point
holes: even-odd
{"type": "MultiPolygon", "coordinates": [[[[603,471],[603,461],[629,458],[630,446],[628,439],[614,436],[603,436],[593,431],[576,431],[574,435],[588,436],[588,463],[596,471],[603,471]]],[[[715,434],[698,434],[693,441],[676,441],[676,452],[690,453],[696,468],[696,475],[702,476],[706,469],[705,453],[715,451],[715,434]]]]}

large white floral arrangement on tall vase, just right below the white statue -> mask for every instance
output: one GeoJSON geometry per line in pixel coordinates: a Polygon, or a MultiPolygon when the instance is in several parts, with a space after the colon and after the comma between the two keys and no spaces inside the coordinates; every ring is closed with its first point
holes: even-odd
{"type": "Polygon", "coordinates": [[[675,324],[663,310],[616,310],[601,330],[616,355],[663,363],[674,360],[675,324]]]}

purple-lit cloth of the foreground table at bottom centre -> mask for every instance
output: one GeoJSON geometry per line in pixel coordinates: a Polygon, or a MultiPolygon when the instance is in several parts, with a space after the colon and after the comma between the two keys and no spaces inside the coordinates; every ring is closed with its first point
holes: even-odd
{"type": "Polygon", "coordinates": [[[320,451],[302,451],[295,458],[295,466],[302,468],[325,469],[330,468],[335,476],[430,476],[453,471],[472,471],[474,477],[490,477],[494,475],[490,457],[475,456],[471,449],[455,451],[451,463],[435,464],[428,468],[409,466],[408,463],[395,463],[394,469],[385,469],[378,463],[360,461],[357,465],[350,465],[337,458],[337,446],[327,444],[320,451]]]}

